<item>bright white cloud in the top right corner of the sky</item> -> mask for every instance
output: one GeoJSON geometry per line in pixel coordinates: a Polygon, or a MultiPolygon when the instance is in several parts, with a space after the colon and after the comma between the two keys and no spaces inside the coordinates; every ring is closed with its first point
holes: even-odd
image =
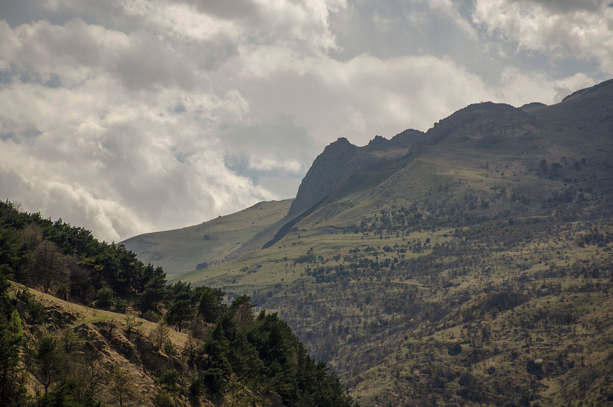
{"type": "Polygon", "coordinates": [[[473,20],[519,49],[598,61],[613,73],[613,8],[606,1],[477,0],[473,20]]]}

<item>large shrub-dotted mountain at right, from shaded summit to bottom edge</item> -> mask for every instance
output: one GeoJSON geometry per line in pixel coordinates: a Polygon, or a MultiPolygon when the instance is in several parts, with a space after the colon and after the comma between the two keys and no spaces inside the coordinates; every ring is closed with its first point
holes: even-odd
{"type": "Polygon", "coordinates": [[[364,405],[611,403],[612,106],[474,104],[330,179],[339,139],[264,249],[175,278],[278,309],[364,405]]]}

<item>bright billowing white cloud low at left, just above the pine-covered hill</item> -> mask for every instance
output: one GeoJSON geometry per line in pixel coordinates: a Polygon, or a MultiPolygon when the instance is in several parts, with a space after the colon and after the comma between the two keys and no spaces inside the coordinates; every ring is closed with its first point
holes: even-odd
{"type": "Polygon", "coordinates": [[[39,83],[1,90],[2,133],[16,134],[0,141],[2,193],[109,240],[275,198],[230,171],[217,139],[200,128],[198,117],[237,109],[236,95],[185,100],[191,117],[183,117],[169,109],[180,94],[139,100],[120,90],[108,79],[78,90],[39,83]],[[26,136],[32,128],[37,135],[26,136]]]}

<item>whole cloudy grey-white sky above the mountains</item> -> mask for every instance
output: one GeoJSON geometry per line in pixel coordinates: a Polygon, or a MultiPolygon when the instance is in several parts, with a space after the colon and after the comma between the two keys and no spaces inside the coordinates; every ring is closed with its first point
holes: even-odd
{"type": "Polygon", "coordinates": [[[0,198],[121,241],[314,158],[613,77],[611,0],[0,0],[0,198]]]}

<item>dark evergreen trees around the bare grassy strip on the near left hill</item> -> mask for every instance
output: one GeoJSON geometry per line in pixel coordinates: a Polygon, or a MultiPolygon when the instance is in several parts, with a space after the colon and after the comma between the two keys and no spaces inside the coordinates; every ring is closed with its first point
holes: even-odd
{"type": "Polygon", "coordinates": [[[227,304],[224,297],[220,289],[167,284],[162,268],[144,265],[123,245],[0,202],[0,405],[122,405],[121,397],[124,405],[172,406],[177,397],[231,400],[233,406],[257,397],[296,406],[354,405],[338,376],[311,359],[276,313],[255,315],[251,298],[227,304]],[[165,390],[135,401],[143,389],[126,386],[126,371],[96,373],[101,351],[27,289],[14,293],[9,279],[63,300],[127,312],[126,338],[183,358],[185,370],[152,373],[165,390]],[[140,335],[134,315],[156,328],[140,335]],[[184,354],[175,355],[169,327],[188,334],[184,354]],[[34,395],[26,390],[29,378],[40,384],[34,395]]]}

